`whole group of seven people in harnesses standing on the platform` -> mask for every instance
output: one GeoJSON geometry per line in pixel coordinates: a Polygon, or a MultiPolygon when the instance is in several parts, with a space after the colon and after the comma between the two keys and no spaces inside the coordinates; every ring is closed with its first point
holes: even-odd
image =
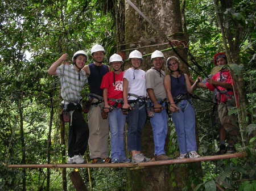
{"type": "MultiPolygon", "coordinates": [[[[180,151],[178,158],[200,157],[196,145],[195,110],[190,96],[196,87],[209,88],[212,91],[220,90],[217,91],[216,97],[221,125],[225,131],[232,134],[233,139],[228,142],[227,148],[228,151],[234,151],[237,129],[233,125],[234,121],[228,116],[230,104],[227,103],[233,100],[233,88],[231,76],[226,76],[230,75],[226,67],[218,72],[220,75],[207,79],[207,83],[200,82],[199,77],[191,85],[188,75],[179,69],[180,61],[175,56],[169,57],[166,61],[170,74],[164,73],[162,67],[165,58],[159,50],[151,54],[152,67],[147,72],[140,69],[143,57],[138,50],[133,50],[129,54],[131,67],[125,71],[122,71],[123,59],[119,54],[113,54],[109,58],[108,66],[102,63],[105,50],[101,45],[94,45],[90,53],[93,63],[89,65],[85,65],[88,56],[84,50],[79,50],[73,55],[73,64],[69,65],[67,54],[63,54],[48,70],[50,75],[57,75],[60,78],[63,98],[61,104],[63,111],[70,114],[67,163],[84,163],[82,155],[87,144],[92,163],[149,161],[150,158],[141,151],[142,129],[147,115],[150,117],[154,137],[155,160],[170,160],[164,150],[168,130],[168,110],[172,112],[172,121],[177,133],[180,151]],[[92,97],[88,124],[82,117],[80,102],[81,91],[86,83],[89,84],[92,97]],[[223,93],[222,90],[227,92],[223,93]],[[223,111],[225,107],[226,113],[223,111]],[[126,122],[127,147],[131,152],[131,159],[125,154],[126,122]],[[109,128],[111,158],[108,150],[109,128]]],[[[221,58],[225,57],[214,57],[214,61],[219,63],[221,58]]],[[[221,145],[222,147],[225,145],[225,139],[221,140],[221,145]]]]}

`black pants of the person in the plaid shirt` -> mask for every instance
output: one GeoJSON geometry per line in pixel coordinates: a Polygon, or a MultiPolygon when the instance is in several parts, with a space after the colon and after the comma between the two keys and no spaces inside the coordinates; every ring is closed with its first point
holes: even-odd
{"type": "Polygon", "coordinates": [[[68,156],[84,155],[88,145],[89,128],[84,121],[81,111],[73,112],[72,124],[69,126],[68,134],[68,156]]]}

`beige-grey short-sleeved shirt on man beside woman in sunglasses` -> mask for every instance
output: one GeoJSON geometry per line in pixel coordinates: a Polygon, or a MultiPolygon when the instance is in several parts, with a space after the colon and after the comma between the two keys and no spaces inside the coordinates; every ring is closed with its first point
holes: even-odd
{"type": "Polygon", "coordinates": [[[151,68],[146,72],[146,89],[151,88],[154,90],[155,97],[158,100],[165,99],[166,90],[164,89],[164,77],[166,73],[163,70],[159,71],[151,68]]]}

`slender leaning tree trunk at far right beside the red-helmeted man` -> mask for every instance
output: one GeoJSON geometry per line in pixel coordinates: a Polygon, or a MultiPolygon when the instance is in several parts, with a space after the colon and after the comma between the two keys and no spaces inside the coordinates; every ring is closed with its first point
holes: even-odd
{"type": "MultiPolygon", "coordinates": [[[[243,35],[245,35],[245,29],[236,19],[232,18],[230,12],[224,14],[224,11],[228,9],[231,10],[233,8],[232,0],[221,1],[220,4],[218,0],[213,0],[213,2],[218,18],[218,26],[221,29],[222,40],[225,46],[226,55],[228,57],[228,63],[236,63],[237,65],[240,65],[240,44],[243,35]]],[[[245,129],[248,124],[246,120],[247,99],[245,95],[245,82],[243,81],[241,74],[236,74],[233,70],[231,70],[231,74],[234,81],[234,92],[236,95],[238,95],[238,121],[242,130],[245,129]]],[[[243,130],[241,131],[241,137],[242,143],[244,144],[245,140],[243,139],[242,132],[243,130]]]]}

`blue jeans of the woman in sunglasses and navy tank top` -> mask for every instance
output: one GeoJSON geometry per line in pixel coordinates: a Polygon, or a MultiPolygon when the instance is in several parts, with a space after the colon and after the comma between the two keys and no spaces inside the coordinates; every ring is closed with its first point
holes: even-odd
{"type": "Polygon", "coordinates": [[[172,121],[177,132],[180,154],[196,151],[195,110],[189,100],[181,100],[177,106],[180,111],[172,113],[172,121]]]}

